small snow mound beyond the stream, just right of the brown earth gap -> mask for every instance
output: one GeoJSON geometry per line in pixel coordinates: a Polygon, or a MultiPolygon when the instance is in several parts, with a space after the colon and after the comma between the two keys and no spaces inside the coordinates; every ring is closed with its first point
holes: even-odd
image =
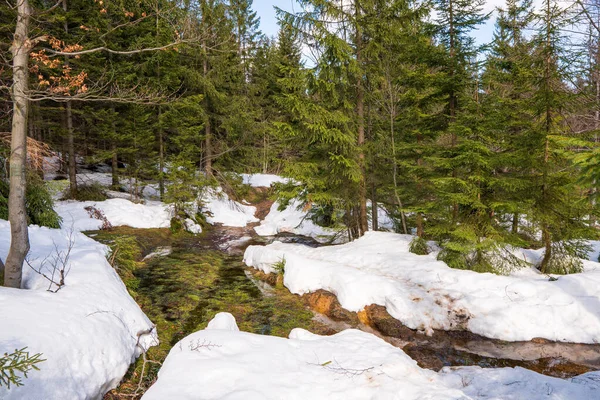
{"type": "Polygon", "coordinates": [[[260,236],[275,236],[278,233],[294,233],[310,236],[319,242],[328,242],[336,237],[337,231],[323,228],[307,218],[307,212],[302,210],[302,203],[293,200],[283,210],[279,211],[280,203],[274,202],[269,214],[254,230],[260,236]]]}

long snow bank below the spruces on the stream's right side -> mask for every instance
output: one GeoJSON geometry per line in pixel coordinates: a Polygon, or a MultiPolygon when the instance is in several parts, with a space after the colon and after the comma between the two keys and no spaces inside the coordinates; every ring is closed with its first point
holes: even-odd
{"type": "Polygon", "coordinates": [[[435,255],[411,254],[412,237],[368,232],[352,243],[309,248],[275,242],[250,246],[247,265],[273,272],[285,259],[284,284],[303,294],[325,289],[359,311],[385,306],[412,329],[467,329],[507,341],[600,342],[600,269],[550,282],[530,271],[498,276],[449,268],[435,255]]]}

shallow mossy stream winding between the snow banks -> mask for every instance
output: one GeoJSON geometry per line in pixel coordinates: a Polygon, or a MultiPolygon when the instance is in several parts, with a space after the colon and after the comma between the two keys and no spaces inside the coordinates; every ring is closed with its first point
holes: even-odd
{"type": "MultiPolygon", "coordinates": [[[[197,236],[128,227],[87,234],[113,249],[111,261],[123,282],[157,325],[161,344],[148,351],[148,358],[154,361],[162,362],[180,339],[205,328],[215,314],[225,311],[233,314],[240,330],[264,335],[287,337],[297,327],[321,335],[361,329],[403,348],[421,367],[434,370],[462,365],[522,366],[568,378],[600,369],[598,345],[503,342],[469,332],[436,331],[425,336],[402,326],[380,306],[367,307],[367,324],[343,309],[341,314],[348,317],[340,317],[340,312],[324,315],[311,309],[306,295],[291,294],[276,277],[265,279],[264,274],[242,263],[244,249],[250,244],[280,240],[318,245],[311,238],[289,234],[261,238],[250,227],[222,226],[210,227],[197,236]]],[[[324,295],[337,302],[332,294],[324,295]]],[[[159,367],[159,363],[150,364],[142,386],[152,384],[159,367]]],[[[140,384],[140,370],[138,360],[121,386],[105,399],[131,398],[140,384]]]]}

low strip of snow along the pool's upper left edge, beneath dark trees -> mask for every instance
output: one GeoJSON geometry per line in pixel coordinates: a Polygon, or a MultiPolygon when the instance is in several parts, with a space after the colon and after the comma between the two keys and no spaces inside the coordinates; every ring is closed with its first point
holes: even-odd
{"type": "Polygon", "coordinates": [[[102,221],[90,217],[85,207],[101,210],[112,226],[127,225],[132,228],[168,228],[171,226],[170,206],[160,202],[148,201],[136,204],[125,199],[108,199],[105,201],[59,201],[55,204],[56,212],[63,219],[64,228],[76,231],[96,230],[102,228],[102,221]]]}

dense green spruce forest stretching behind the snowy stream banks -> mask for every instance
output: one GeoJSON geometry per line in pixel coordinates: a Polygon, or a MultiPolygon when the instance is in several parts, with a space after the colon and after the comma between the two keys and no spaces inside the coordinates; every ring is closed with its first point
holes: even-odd
{"type": "MultiPolygon", "coordinates": [[[[134,196],[158,183],[175,225],[196,218],[198,194],[229,173],[277,173],[294,180],[278,186],[281,204],[299,199],[350,238],[366,230],[370,201],[373,229],[383,207],[397,232],[416,234],[411,251],[426,254],[433,240],[454,268],[508,273],[523,263],[507,249],[543,246],[542,272],[581,269],[583,241],[597,236],[600,32],[579,20],[590,25],[582,55],[564,33],[573,8],[507,0],[483,49],[473,37],[487,19],[481,1],[298,3],[278,10],[274,38],[260,32],[252,0],[71,0],[40,14],[32,35],[65,46],[182,42],[32,61],[35,93],[66,65],[85,73],[95,101],[68,102],[71,129],[68,99],[31,102],[30,135],[65,160],[73,139],[77,156],[112,166],[116,189],[138,182],[134,196]]],[[[14,18],[0,5],[2,43],[14,18]]],[[[0,81],[10,87],[8,69],[0,81]]],[[[10,105],[2,92],[0,112],[10,105]]],[[[6,195],[3,178],[0,218],[6,195]]],[[[79,187],[69,197],[104,195],[79,187]]],[[[58,225],[34,176],[28,206],[32,223],[58,225]]]]}

